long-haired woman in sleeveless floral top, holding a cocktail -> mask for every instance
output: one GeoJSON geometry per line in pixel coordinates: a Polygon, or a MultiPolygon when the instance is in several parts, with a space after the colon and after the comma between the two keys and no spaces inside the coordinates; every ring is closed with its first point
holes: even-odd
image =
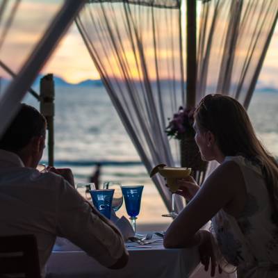
{"type": "Polygon", "coordinates": [[[238,277],[278,277],[277,162],[231,97],[204,97],[193,127],[202,158],[220,166],[201,188],[192,178],[177,180],[177,193],[190,202],[167,229],[165,247],[198,245],[211,276],[218,264],[220,271],[234,265],[238,277]],[[209,220],[211,232],[199,230],[209,220]],[[224,259],[213,252],[213,238],[224,259]]]}

